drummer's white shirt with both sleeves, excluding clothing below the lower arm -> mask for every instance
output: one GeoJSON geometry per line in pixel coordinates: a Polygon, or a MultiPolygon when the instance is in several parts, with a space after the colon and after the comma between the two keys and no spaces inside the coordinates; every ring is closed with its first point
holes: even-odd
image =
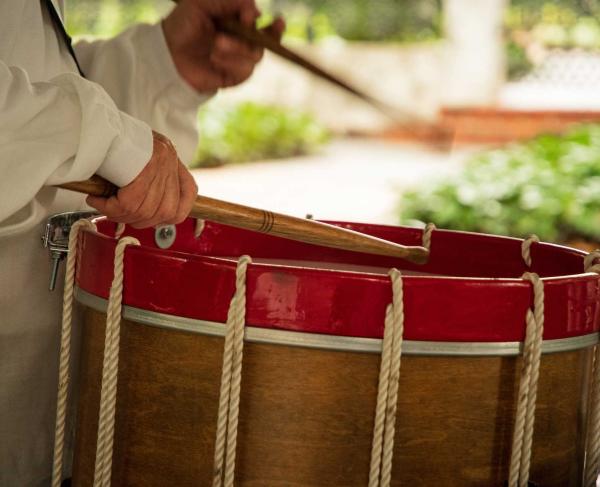
{"type": "Polygon", "coordinates": [[[0,6],[0,225],[44,186],[94,173],[131,182],[150,159],[149,125],[193,155],[205,97],[179,77],[160,26],[75,51],[87,79],[39,0],[0,6]]]}

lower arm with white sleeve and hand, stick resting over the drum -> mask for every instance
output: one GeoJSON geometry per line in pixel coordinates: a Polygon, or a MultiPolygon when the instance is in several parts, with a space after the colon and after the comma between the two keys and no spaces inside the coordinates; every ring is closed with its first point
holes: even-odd
{"type": "Polygon", "coordinates": [[[98,85],[73,73],[31,83],[0,61],[0,222],[46,185],[97,173],[121,186],[88,202],[115,221],[178,223],[197,188],[169,140],[119,111],[98,85]]]}

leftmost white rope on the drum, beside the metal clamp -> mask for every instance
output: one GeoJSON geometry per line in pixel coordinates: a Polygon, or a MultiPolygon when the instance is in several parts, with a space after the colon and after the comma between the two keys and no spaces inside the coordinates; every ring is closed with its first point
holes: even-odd
{"type": "Polygon", "coordinates": [[[77,261],[77,237],[82,228],[96,230],[89,220],[76,221],[69,232],[69,252],[65,270],[63,292],[62,326],[58,366],[58,393],[56,399],[56,424],[54,430],[54,459],[52,462],[52,487],[60,487],[65,446],[65,423],[71,366],[71,324],[73,320],[73,288],[75,284],[75,262],[77,261]]]}

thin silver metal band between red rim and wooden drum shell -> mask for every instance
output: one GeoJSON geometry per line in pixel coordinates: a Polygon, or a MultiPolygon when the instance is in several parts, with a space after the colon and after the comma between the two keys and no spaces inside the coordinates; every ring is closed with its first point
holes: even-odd
{"type": "MultiPolygon", "coordinates": [[[[106,313],[107,300],[77,287],[75,299],[96,311],[106,313]]],[[[223,323],[183,318],[132,306],[123,306],[123,319],[136,323],[170,330],[198,333],[207,336],[225,336],[223,323]]],[[[599,333],[590,333],[573,338],[545,340],[542,353],[568,352],[593,347],[599,341],[599,333]]],[[[317,348],[332,351],[381,353],[381,339],[358,338],[317,333],[302,333],[288,330],[246,327],[245,340],[254,343],[284,345],[291,347],[317,348]]],[[[433,342],[405,340],[402,354],[437,356],[508,356],[520,355],[522,342],[433,342]]]]}

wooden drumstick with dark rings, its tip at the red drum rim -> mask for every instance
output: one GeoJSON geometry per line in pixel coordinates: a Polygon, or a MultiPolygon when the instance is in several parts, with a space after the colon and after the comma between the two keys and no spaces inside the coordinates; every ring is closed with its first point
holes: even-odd
{"type": "MultiPolygon", "coordinates": [[[[93,176],[87,181],[60,184],[58,187],[105,198],[114,196],[119,189],[100,176],[93,176]]],[[[324,247],[399,257],[415,264],[424,264],[429,257],[429,251],[424,247],[404,246],[334,225],[207,196],[196,197],[190,216],[324,247]]]]}

